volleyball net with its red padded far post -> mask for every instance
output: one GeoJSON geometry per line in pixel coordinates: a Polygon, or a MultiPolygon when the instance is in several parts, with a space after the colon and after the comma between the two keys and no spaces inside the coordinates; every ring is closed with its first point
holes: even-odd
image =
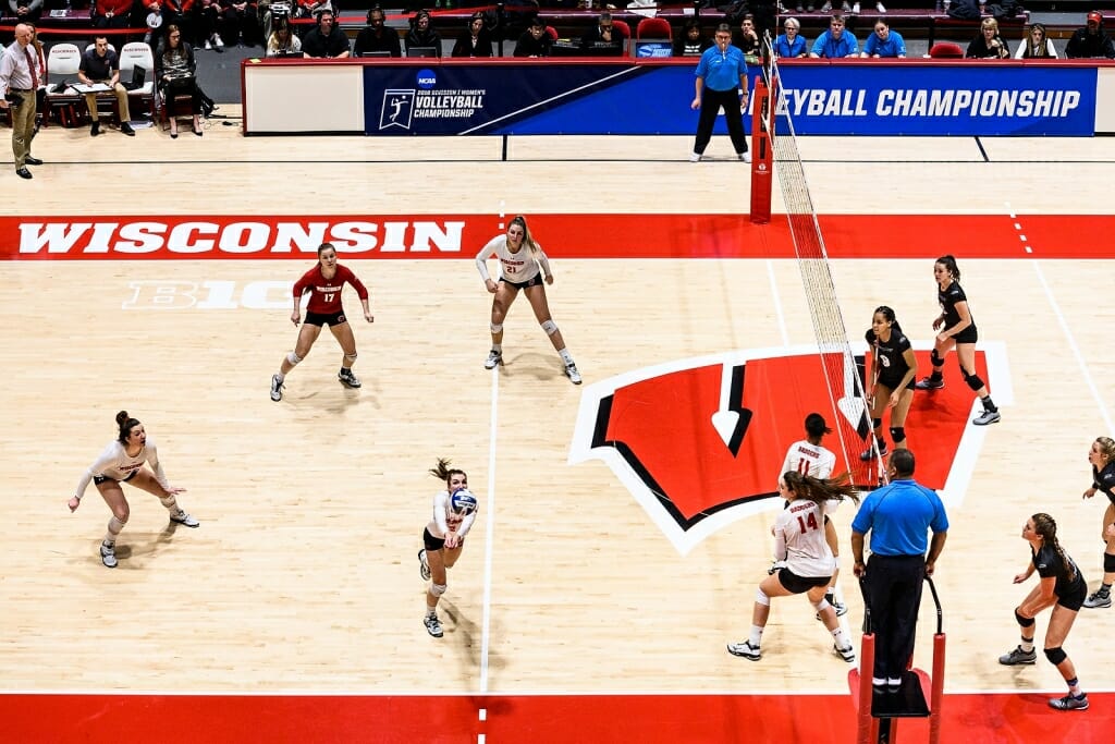
{"type": "MultiPolygon", "coordinates": [[[[824,235],[797,147],[794,119],[787,107],[783,106],[779,110],[777,106],[782,71],[770,48],[769,36],[764,46],[763,75],[756,77],[753,96],[753,221],[767,222],[770,219],[772,173],[776,173],[813,321],[817,357],[824,368],[834,412],[835,421],[830,426],[840,442],[837,457],[843,458],[843,465],[856,485],[875,487],[885,479],[882,458],[874,456],[864,462],[860,456],[865,450],[875,447],[875,438],[871,436],[871,412],[864,394],[864,358],[856,358],[849,342],[824,235]]],[[[874,454],[878,455],[878,452],[874,454]]]]}

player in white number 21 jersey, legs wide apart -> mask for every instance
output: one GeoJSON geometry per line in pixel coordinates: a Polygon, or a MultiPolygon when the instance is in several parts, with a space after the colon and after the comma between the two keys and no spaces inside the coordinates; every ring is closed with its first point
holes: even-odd
{"type": "Polygon", "coordinates": [[[492,300],[492,350],[484,360],[484,368],[494,369],[496,365],[503,364],[503,320],[507,317],[511,303],[518,296],[518,290],[523,290],[531,302],[531,309],[534,310],[534,317],[561,356],[565,365],[565,375],[574,385],[580,385],[581,373],[576,370],[573,357],[565,348],[565,339],[558,330],[558,323],[550,317],[545,288],[545,284],[554,283],[550,260],[542,252],[542,247],[531,236],[525,218],[521,215],[514,218],[507,225],[505,235],[496,235],[481,249],[476,254],[476,269],[481,272],[484,287],[495,294],[492,300]],[[500,261],[498,282],[488,274],[487,260],[492,257],[500,261]]]}

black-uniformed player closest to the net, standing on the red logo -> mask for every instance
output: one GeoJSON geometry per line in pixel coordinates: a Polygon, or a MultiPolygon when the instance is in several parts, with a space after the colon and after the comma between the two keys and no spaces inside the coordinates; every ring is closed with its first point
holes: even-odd
{"type": "Polygon", "coordinates": [[[910,339],[894,319],[894,310],[885,305],[875,308],[871,329],[865,336],[871,349],[871,379],[867,400],[871,405],[871,427],[875,432],[876,444],[860,454],[867,462],[876,454],[886,455],[883,439],[883,412],[891,412],[891,438],[895,450],[906,448],[905,425],[910,404],[913,403],[913,380],[918,376],[918,360],[914,359],[910,339]],[[876,446],[878,445],[878,446],[876,446]]]}

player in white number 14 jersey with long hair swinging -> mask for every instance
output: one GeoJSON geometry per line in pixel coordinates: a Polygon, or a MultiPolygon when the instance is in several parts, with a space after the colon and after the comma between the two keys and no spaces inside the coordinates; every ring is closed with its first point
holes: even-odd
{"type": "Polygon", "coordinates": [[[728,644],[728,653],[758,661],[763,657],[759,646],[770,616],[770,598],[804,593],[832,634],[833,649],[845,661],[854,661],[852,639],[825,599],[834,561],[825,541],[822,509],[826,501],[860,499],[846,474],[837,480],[822,480],[788,471],[778,480],[778,493],[789,504],[775,520],[775,566],[756,592],[750,635],[747,640],[728,644]]]}

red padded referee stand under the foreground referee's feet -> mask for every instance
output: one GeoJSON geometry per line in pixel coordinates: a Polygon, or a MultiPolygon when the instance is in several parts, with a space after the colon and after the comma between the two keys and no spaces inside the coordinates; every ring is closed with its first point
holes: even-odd
{"type": "Polygon", "coordinates": [[[933,677],[922,669],[912,668],[913,659],[902,674],[902,685],[898,692],[876,690],[871,684],[875,664],[875,634],[871,627],[871,603],[867,592],[860,581],[863,592],[863,645],[860,649],[860,668],[847,675],[852,692],[852,705],[856,708],[856,744],[893,744],[898,742],[899,718],[929,718],[929,742],[941,740],[941,704],[944,696],[944,630],[941,600],[937,596],[933,579],[925,577],[929,590],[937,606],[937,632],[933,635],[933,677]]]}

